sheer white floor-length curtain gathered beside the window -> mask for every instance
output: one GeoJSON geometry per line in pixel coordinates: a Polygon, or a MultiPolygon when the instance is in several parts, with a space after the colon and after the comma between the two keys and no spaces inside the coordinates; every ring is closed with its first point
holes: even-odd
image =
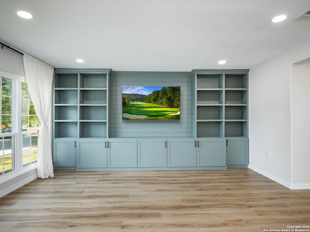
{"type": "Polygon", "coordinates": [[[40,119],[38,137],[37,175],[54,176],[50,144],[51,93],[54,69],[42,61],[24,54],[24,68],[31,101],[40,119]]]}

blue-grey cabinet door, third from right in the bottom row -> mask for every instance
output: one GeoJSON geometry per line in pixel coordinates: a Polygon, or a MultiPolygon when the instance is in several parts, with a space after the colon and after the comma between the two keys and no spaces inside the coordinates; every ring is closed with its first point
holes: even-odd
{"type": "Polygon", "coordinates": [[[168,167],[195,167],[195,139],[168,140],[168,167]]]}

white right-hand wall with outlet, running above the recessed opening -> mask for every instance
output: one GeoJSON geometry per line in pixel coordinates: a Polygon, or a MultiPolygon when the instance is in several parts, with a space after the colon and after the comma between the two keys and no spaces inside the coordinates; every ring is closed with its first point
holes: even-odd
{"type": "MultiPolygon", "coordinates": [[[[294,160],[291,152],[292,64],[309,57],[310,41],[263,62],[249,73],[249,168],[288,188],[293,184],[294,160]]],[[[300,136],[307,136],[307,132],[300,136]]],[[[310,183],[309,179],[295,181],[310,183]]]]}

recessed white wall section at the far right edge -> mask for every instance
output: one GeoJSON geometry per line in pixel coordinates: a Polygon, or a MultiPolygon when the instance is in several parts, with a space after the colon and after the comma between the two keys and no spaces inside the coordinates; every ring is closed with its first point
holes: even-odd
{"type": "Polygon", "coordinates": [[[310,58],[292,67],[292,188],[310,188],[310,58]]]}

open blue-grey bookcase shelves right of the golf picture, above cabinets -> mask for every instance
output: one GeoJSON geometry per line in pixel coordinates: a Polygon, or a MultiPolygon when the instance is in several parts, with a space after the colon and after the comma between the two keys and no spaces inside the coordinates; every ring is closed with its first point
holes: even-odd
{"type": "Polygon", "coordinates": [[[247,137],[248,71],[194,70],[193,73],[196,95],[194,135],[247,137]]]}

